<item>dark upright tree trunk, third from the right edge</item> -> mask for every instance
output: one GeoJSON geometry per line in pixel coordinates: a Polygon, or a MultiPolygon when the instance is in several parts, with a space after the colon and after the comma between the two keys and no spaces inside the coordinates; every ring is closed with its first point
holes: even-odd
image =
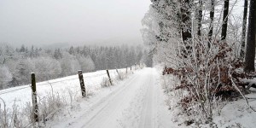
{"type": "Polygon", "coordinates": [[[229,6],[230,6],[230,0],[225,0],[224,11],[223,11],[223,23],[222,23],[222,29],[221,29],[221,40],[225,40],[227,37],[229,6]]]}

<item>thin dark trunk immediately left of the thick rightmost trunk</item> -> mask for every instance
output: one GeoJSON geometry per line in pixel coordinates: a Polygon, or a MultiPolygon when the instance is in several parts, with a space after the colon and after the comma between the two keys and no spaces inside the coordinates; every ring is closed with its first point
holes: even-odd
{"type": "Polygon", "coordinates": [[[244,58],[245,54],[245,38],[246,38],[246,30],[247,30],[247,6],[248,0],[244,0],[244,9],[243,9],[243,18],[242,18],[242,29],[241,29],[241,59],[244,58]]]}

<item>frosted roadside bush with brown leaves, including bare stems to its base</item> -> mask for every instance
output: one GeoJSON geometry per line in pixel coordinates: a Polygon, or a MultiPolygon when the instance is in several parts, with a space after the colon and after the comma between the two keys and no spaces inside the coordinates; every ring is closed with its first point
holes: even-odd
{"type": "Polygon", "coordinates": [[[232,80],[242,90],[240,79],[247,76],[241,72],[241,60],[233,55],[232,47],[226,42],[216,41],[211,44],[211,48],[199,40],[191,44],[191,49],[181,48],[187,50],[187,55],[179,55],[182,61],[180,67],[166,67],[163,74],[172,73],[180,79],[176,90],[189,91],[189,95],[180,101],[183,109],[189,115],[201,115],[201,120],[211,122],[213,104],[218,101],[216,98],[239,96],[232,86],[232,80]]]}

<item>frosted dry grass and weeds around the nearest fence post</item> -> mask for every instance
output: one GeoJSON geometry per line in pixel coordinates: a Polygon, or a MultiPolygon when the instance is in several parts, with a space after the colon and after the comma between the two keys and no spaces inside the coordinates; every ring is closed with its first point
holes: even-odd
{"type": "Polygon", "coordinates": [[[3,102],[0,104],[0,127],[32,127],[36,125],[38,125],[38,127],[44,126],[43,122],[45,123],[49,119],[54,118],[56,115],[55,113],[58,113],[61,108],[66,105],[64,100],[67,100],[67,98],[61,98],[59,94],[54,95],[51,93],[49,93],[48,96],[44,96],[43,98],[39,97],[38,123],[36,123],[34,120],[31,102],[26,102],[23,108],[18,108],[18,106],[14,103],[12,109],[6,109],[5,103],[3,102]]]}

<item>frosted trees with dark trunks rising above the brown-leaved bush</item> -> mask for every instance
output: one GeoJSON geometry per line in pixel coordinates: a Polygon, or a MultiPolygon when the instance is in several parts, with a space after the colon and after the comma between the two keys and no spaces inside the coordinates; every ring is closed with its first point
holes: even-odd
{"type": "Polygon", "coordinates": [[[188,55],[195,40],[207,44],[206,50],[211,49],[214,44],[224,42],[232,47],[236,58],[244,62],[245,72],[255,71],[256,5],[254,1],[249,1],[248,4],[248,0],[243,0],[242,15],[232,15],[233,8],[238,6],[237,0],[151,0],[151,2],[148,13],[143,18],[145,27],[142,33],[144,43],[151,46],[154,53],[160,53],[160,51],[156,52],[157,49],[168,49],[169,45],[174,44],[182,45],[184,49],[181,54],[188,55]]]}

